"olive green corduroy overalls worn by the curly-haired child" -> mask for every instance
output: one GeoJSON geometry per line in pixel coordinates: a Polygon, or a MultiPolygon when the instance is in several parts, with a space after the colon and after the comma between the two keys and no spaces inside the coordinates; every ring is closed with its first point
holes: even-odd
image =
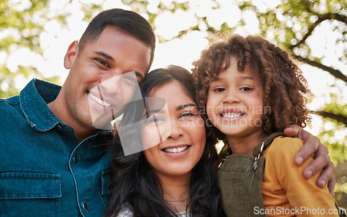
{"type": "Polygon", "coordinates": [[[218,179],[223,209],[228,217],[266,216],[258,212],[260,209],[264,210],[262,175],[265,158],[260,156],[260,153],[272,143],[273,139],[282,135],[284,135],[283,132],[273,133],[255,146],[254,157],[222,154],[226,157],[219,168],[218,179]]]}

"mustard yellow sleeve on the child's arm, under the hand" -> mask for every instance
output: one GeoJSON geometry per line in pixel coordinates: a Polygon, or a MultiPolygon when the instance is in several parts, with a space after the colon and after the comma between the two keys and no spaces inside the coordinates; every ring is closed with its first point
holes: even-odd
{"type": "Polygon", "coordinates": [[[271,146],[266,148],[266,170],[272,170],[271,174],[276,175],[273,178],[277,179],[276,182],[284,190],[282,192],[287,197],[289,207],[293,211],[295,209],[296,216],[339,216],[328,187],[320,189],[316,186],[320,173],[316,173],[309,180],[302,175],[313,158],[309,157],[301,166],[294,163],[294,157],[302,146],[301,139],[277,137],[271,146]]]}

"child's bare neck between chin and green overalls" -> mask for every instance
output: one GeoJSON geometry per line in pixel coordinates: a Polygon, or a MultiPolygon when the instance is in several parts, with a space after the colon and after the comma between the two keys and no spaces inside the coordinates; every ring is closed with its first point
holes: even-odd
{"type": "Polygon", "coordinates": [[[228,135],[226,137],[230,143],[232,154],[253,156],[253,148],[266,138],[266,134],[264,134],[264,130],[257,130],[253,134],[249,134],[245,137],[233,137],[228,135]]]}

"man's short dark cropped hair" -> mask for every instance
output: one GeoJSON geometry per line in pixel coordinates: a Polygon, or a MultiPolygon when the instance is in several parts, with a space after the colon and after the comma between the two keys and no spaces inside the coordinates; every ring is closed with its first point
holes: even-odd
{"type": "Polygon", "coordinates": [[[124,31],[147,44],[151,48],[149,68],[151,67],[155,49],[155,35],[153,33],[153,28],[144,17],[130,10],[122,10],[118,8],[110,9],[100,12],[99,15],[94,17],[81,37],[79,42],[79,53],[82,53],[85,45],[97,40],[107,26],[116,26],[121,31],[124,31]]]}

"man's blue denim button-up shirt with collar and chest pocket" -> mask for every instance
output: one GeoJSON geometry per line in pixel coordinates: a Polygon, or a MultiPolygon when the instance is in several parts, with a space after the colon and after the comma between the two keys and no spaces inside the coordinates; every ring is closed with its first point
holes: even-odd
{"type": "Polygon", "coordinates": [[[102,216],[108,198],[108,132],[78,143],[49,110],[60,87],[32,80],[0,99],[0,216],[102,216]]]}

